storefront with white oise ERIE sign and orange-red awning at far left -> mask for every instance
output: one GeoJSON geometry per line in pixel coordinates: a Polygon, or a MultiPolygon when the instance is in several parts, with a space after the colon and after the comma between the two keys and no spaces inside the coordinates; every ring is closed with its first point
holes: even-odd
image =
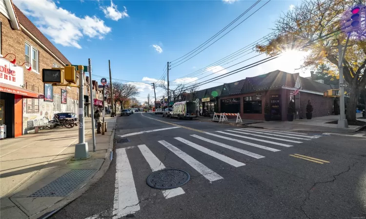
{"type": "Polygon", "coordinates": [[[43,95],[22,88],[23,68],[0,58],[0,129],[3,137],[22,135],[23,98],[43,98],[43,95]]]}

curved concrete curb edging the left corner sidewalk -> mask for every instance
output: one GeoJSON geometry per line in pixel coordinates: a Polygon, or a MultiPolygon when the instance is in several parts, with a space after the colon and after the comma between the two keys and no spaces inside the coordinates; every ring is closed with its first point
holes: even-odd
{"type": "Polygon", "coordinates": [[[104,176],[104,174],[107,172],[109,165],[111,164],[111,161],[109,158],[111,157],[111,154],[113,153],[113,143],[114,143],[114,135],[116,132],[116,125],[117,125],[117,118],[116,122],[113,127],[113,131],[111,134],[111,137],[109,139],[109,148],[107,153],[105,154],[104,162],[102,166],[99,168],[98,172],[86,183],[81,185],[81,187],[76,190],[75,192],[71,193],[70,195],[66,196],[64,199],[56,202],[55,204],[49,206],[48,208],[40,211],[39,213],[32,215],[29,217],[29,219],[47,219],[51,217],[52,215],[56,214],[58,211],[60,211],[63,207],[71,203],[72,201],[79,198],[84,192],[86,192],[94,183],[98,182],[104,176]]]}

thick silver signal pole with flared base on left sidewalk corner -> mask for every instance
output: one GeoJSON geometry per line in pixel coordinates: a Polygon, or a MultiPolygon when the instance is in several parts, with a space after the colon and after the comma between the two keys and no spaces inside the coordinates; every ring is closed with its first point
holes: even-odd
{"type": "Polygon", "coordinates": [[[79,143],[75,145],[75,159],[89,157],[88,143],[85,142],[84,126],[84,70],[83,66],[78,66],[79,73],[79,143]]]}

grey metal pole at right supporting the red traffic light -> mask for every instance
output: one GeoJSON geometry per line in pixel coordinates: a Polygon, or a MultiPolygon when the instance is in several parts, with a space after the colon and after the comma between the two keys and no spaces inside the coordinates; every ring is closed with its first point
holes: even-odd
{"type": "MultiPolygon", "coordinates": [[[[349,34],[347,36],[347,40],[346,40],[346,46],[347,46],[347,42],[349,39],[349,34]]],[[[346,52],[346,46],[345,46],[345,51],[346,52]]],[[[340,109],[340,116],[339,116],[339,120],[338,120],[338,124],[337,127],[338,128],[348,128],[348,123],[345,117],[345,91],[343,86],[343,57],[344,54],[342,53],[342,44],[338,45],[338,57],[339,57],[339,109],[340,109]]]]}

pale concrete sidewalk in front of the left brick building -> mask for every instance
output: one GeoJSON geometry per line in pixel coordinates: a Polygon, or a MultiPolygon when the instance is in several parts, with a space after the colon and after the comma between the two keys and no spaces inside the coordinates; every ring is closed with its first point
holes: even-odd
{"type": "Polygon", "coordinates": [[[104,118],[108,131],[95,134],[96,152],[91,119],[85,119],[85,141],[91,155],[85,160],[72,160],[79,127],[44,129],[1,140],[1,219],[38,218],[76,199],[101,178],[110,164],[116,119],[104,118]]]}

